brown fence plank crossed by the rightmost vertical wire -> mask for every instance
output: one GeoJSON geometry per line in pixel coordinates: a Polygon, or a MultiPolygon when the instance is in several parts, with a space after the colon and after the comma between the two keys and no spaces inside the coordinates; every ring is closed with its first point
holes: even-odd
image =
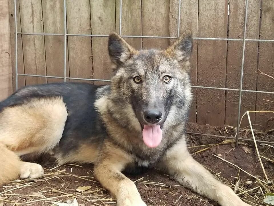
{"type": "MultiPolygon", "coordinates": [[[[247,13],[247,39],[258,39],[260,20],[260,0],[249,1],[247,13]]],[[[245,0],[231,0],[229,3],[229,38],[243,38],[243,27],[245,18],[245,0]]],[[[240,73],[242,64],[242,41],[228,41],[227,45],[227,88],[239,89],[240,73]]],[[[256,68],[258,56],[258,42],[246,41],[245,61],[243,70],[243,89],[256,90],[256,68]]],[[[256,94],[242,92],[241,116],[247,110],[255,110],[256,94]]],[[[237,126],[239,92],[226,92],[226,114],[225,124],[237,126]]],[[[251,122],[254,124],[255,115],[250,114],[251,122]]],[[[249,125],[247,117],[242,121],[241,127],[249,125]]]]}

